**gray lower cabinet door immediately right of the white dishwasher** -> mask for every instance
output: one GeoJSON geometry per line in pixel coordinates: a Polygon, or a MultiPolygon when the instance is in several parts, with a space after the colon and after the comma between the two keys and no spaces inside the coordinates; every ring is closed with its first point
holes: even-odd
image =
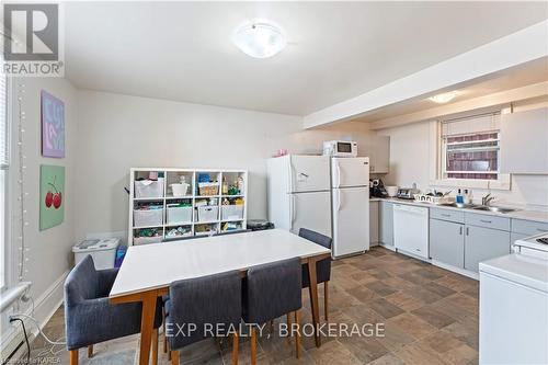
{"type": "Polygon", "coordinates": [[[465,226],[430,219],[430,255],[456,267],[465,266],[465,226]]]}

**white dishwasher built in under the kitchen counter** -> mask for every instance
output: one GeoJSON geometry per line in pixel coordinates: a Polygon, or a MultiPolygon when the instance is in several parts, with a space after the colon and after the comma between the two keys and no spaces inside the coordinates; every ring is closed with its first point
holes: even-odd
{"type": "Polygon", "coordinates": [[[429,208],[393,205],[393,247],[402,253],[429,259],[429,208]]]}

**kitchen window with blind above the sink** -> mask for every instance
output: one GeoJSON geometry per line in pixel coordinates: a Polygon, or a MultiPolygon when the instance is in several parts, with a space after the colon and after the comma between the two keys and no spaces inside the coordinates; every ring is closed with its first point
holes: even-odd
{"type": "Polygon", "coordinates": [[[441,178],[499,180],[500,113],[441,123],[441,178]]]}

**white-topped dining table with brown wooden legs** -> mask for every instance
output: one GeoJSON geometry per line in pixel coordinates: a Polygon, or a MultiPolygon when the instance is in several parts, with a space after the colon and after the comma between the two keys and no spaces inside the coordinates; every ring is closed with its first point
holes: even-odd
{"type": "MultiPolygon", "coordinates": [[[[310,307],[315,329],[319,323],[316,262],[331,250],[282,229],[219,235],[129,247],[110,293],[112,304],[142,303],[139,364],[148,364],[157,298],[172,282],[247,270],[270,262],[300,258],[308,264],[310,307]]],[[[316,345],[320,346],[318,331],[316,345]]]]}

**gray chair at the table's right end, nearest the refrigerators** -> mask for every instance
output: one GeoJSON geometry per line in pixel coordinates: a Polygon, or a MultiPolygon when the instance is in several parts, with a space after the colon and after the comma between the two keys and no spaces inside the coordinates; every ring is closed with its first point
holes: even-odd
{"type": "MultiPolygon", "coordinates": [[[[299,236],[323,246],[331,250],[331,238],[323,236],[321,233],[315,232],[313,230],[300,228],[299,236]]],[[[328,298],[329,298],[329,281],[331,280],[331,258],[320,260],[316,263],[316,281],[318,284],[323,283],[323,315],[326,320],[328,320],[328,298]]],[[[302,287],[308,287],[310,282],[308,280],[308,264],[302,265],[302,287]]]]}

